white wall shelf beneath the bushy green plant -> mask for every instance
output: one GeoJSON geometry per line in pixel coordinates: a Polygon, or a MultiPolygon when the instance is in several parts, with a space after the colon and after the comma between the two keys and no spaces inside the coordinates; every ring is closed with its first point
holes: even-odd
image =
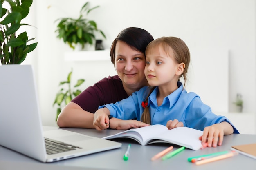
{"type": "Polygon", "coordinates": [[[109,50],[69,51],[64,53],[64,60],[67,62],[110,61],[110,51],[109,50]]]}

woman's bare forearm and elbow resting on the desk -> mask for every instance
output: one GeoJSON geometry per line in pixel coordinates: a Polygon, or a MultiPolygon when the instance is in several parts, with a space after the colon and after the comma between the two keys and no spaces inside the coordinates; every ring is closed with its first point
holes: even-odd
{"type": "Polygon", "coordinates": [[[61,128],[94,128],[93,113],[83,110],[74,102],[68,103],[57,119],[57,124],[61,128]]]}

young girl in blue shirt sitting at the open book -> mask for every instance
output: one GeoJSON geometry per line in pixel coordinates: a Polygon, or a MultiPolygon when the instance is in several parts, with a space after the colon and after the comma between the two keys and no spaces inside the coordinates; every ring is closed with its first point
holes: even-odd
{"type": "Polygon", "coordinates": [[[112,129],[153,124],[166,125],[169,129],[186,126],[204,131],[200,137],[203,145],[222,145],[223,135],[239,132],[226,117],[213,114],[198,95],[186,92],[189,62],[189,49],[180,38],[162,37],[150,42],[144,70],[150,87],[145,86],[115,104],[99,107],[94,114],[94,127],[103,130],[110,126],[112,129]]]}

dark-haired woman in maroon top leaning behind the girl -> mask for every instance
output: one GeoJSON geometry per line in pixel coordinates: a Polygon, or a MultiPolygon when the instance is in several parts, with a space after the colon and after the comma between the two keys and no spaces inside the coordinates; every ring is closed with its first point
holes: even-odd
{"type": "Polygon", "coordinates": [[[152,35],[141,28],[130,27],[121,31],[110,48],[117,75],[100,80],[75,97],[61,110],[58,126],[94,128],[94,113],[99,106],[125,99],[148,85],[144,75],[145,50],[153,40],[152,35]]]}

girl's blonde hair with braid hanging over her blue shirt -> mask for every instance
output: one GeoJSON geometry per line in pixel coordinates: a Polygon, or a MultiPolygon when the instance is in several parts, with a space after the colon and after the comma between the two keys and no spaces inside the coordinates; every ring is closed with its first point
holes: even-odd
{"type": "MultiPolygon", "coordinates": [[[[186,85],[186,73],[188,71],[188,66],[190,62],[190,52],[188,46],[186,46],[185,42],[182,41],[180,38],[177,37],[161,37],[157,38],[156,40],[153,40],[150,42],[146,48],[146,55],[147,53],[150,53],[150,50],[153,49],[155,46],[162,46],[164,51],[168,54],[170,47],[173,49],[175,60],[178,64],[184,63],[184,71],[180,75],[180,78],[183,77],[184,79],[184,86],[186,85]]],[[[171,56],[171,55],[169,55],[171,56]]],[[[183,88],[184,88],[183,86],[183,88]]],[[[148,97],[152,93],[152,91],[155,89],[155,87],[152,87],[148,93],[148,96],[146,97],[145,103],[148,103],[148,97]]],[[[148,106],[145,107],[144,112],[141,115],[141,121],[147,124],[151,124],[151,118],[149,113],[148,106]]]]}

